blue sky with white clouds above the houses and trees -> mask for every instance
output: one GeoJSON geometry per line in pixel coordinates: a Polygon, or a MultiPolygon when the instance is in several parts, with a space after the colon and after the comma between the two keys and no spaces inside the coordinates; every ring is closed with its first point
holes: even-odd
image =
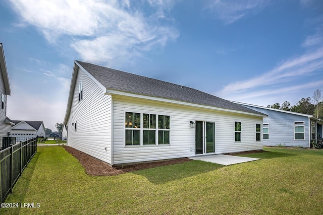
{"type": "Polygon", "coordinates": [[[0,26],[7,115],[52,130],[75,59],[262,106],[323,90],[320,0],[9,0],[0,26]]]}

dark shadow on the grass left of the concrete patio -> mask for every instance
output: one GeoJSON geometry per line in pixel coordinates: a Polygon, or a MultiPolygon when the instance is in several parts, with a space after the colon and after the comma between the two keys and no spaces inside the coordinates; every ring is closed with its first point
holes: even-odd
{"type": "Polygon", "coordinates": [[[155,185],[188,178],[201,173],[207,173],[213,170],[225,167],[220,164],[214,164],[204,161],[189,161],[181,164],[155,167],[145,170],[131,172],[136,175],[144,176],[155,185]]]}

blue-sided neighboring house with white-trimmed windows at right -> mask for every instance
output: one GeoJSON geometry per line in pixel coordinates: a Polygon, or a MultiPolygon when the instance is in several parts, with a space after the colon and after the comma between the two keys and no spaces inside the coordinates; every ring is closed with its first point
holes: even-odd
{"type": "Polygon", "coordinates": [[[312,115],[236,103],[268,115],[263,118],[264,146],[310,147],[312,139],[322,137],[323,121],[312,115]]]}

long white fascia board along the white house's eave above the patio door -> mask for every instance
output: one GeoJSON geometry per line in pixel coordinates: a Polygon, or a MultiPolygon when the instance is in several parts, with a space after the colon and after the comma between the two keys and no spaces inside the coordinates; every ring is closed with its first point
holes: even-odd
{"type": "Polygon", "coordinates": [[[117,90],[112,90],[112,89],[106,89],[106,94],[111,95],[111,96],[121,95],[121,96],[128,96],[128,97],[139,98],[139,99],[147,99],[147,100],[152,100],[152,101],[167,102],[167,103],[172,103],[172,104],[177,104],[177,105],[191,106],[191,107],[195,107],[195,108],[207,108],[207,109],[211,109],[211,110],[217,110],[217,111],[223,111],[223,112],[229,112],[229,113],[267,117],[267,115],[265,115],[265,114],[256,114],[256,113],[249,113],[249,112],[245,112],[245,111],[231,110],[231,109],[219,108],[219,107],[208,106],[208,105],[200,105],[200,104],[194,104],[194,103],[189,103],[189,102],[184,102],[184,101],[179,101],[179,100],[166,99],[166,98],[153,97],[153,96],[145,96],[145,95],[141,95],[141,94],[129,93],[129,92],[124,92],[124,91],[117,91],[117,90]]]}

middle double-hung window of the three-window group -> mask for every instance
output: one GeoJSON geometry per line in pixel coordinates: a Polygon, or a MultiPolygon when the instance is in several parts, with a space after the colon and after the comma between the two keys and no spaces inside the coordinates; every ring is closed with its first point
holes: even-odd
{"type": "Polygon", "coordinates": [[[156,114],[142,114],[143,123],[143,145],[156,144],[156,114]]]}

